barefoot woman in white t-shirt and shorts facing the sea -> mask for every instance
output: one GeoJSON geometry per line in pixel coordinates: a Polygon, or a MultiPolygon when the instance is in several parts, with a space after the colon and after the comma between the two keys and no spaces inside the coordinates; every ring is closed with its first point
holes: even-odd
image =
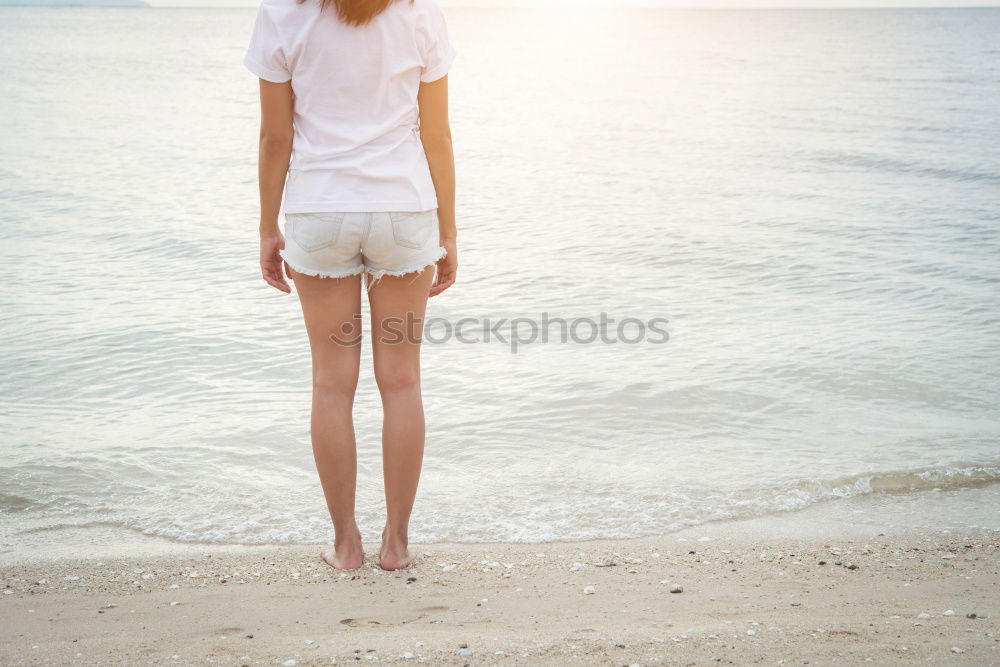
{"type": "Polygon", "coordinates": [[[433,0],[263,0],[244,58],[260,78],[261,273],[288,293],[287,273],[302,305],[313,454],[335,531],[321,558],[338,569],[364,560],[351,415],[362,274],[384,411],[379,564],[395,570],[413,560],[407,531],[424,449],[420,334],[428,296],[448,289],[458,267],[447,77],[454,57],[433,0]]]}

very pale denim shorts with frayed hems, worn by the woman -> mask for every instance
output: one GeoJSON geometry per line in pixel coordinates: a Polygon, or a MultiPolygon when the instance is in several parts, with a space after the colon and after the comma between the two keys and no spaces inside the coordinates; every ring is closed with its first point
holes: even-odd
{"type": "Polygon", "coordinates": [[[383,213],[286,213],[285,247],[292,269],[309,276],[344,278],[420,273],[445,256],[437,209],[383,213]]]}

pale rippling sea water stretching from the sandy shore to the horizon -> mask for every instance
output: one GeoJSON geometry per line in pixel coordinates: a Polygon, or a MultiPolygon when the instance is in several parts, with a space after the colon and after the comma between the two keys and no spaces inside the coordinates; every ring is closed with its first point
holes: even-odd
{"type": "MultiPolygon", "coordinates": [[[[1000,10],[447,15],[462,267],[415,540],[934,489],[1000,527],[1000,10]],[[668,340],[580,342],[602,313],[668,340]],[[512,351],[543,314],[577,340],[512,351]]],[[[298,304],[256,266],[253,10],[0,16],[0,544],[328,539],[298,304]]],[[[368,349],[355,415],[371,538],[368,349]]]]}

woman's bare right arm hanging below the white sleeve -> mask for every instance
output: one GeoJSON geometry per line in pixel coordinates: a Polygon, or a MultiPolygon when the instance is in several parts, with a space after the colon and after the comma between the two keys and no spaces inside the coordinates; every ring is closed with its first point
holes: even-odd
{"type": "Polygon", "coordinates": [[[431,296],[451,287],[458,271],[458,230],[455,224],[455,155],[451,146],[448,121],[448,77],[421,83],[417,94],[420,106],[420,141],[424,144],[427,164],[438,200],[440,244],[448,251],[437,264],[437,277],[431,296]]]}

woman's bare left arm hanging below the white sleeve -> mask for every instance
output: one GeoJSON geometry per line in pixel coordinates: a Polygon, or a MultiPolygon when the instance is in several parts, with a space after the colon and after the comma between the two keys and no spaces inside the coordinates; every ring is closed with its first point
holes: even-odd
{"type": "Polygon", "coordinates": [[[281,194],[292,157],[292,84],[260,80],[260,270],[272,287],[289,293],[278,250],[285,239],[278,229],[281,194]]]}

